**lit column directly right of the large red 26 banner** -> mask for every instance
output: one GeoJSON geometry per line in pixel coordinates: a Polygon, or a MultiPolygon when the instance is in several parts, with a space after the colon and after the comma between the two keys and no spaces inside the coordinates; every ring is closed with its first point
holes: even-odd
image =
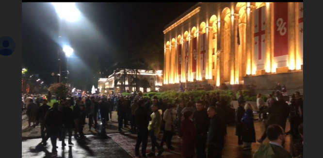
{"type": "Polygon", "coordinates": [[[288,67],[290,70],[296,69],[296,4],[288,2],[288,67]]]}

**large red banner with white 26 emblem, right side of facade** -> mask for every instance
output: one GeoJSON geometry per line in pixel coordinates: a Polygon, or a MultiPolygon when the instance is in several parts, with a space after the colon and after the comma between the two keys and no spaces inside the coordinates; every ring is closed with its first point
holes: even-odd
{"type": "Polygon", "coordinates": [[[288,2],[274,3],[274,57],[288,55],[288,2]]]}

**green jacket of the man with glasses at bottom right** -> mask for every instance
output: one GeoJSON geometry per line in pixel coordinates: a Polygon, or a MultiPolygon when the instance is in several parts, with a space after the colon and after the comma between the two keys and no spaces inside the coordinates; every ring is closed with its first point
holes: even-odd
{"type": "Polygon", "coordinates": [[[291,153],[281,146],[274,144],[261,144],[253,158],[291,158],[291,153]]]}

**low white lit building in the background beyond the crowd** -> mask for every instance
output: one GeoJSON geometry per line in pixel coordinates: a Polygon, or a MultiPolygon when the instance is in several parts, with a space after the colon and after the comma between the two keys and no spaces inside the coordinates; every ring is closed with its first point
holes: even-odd
{"type": "MultiPolygon", "coordinates": [[[[128,71],[129,69],[126,69],[128,71]]],[[[148,70],[138,70],[137,74],[137,83],[138,83],[138,89],[137,91],[144,92],[145,88],[147,92],[151,91],[159,91],[163,84],[163,78],[162,78],[162,70],[157,70],[157,71],[148,71],[148,70]]],[[[123,74],[123,72],[119,72],[113,75],[110,75],[108,78],[100,78],[98,80],[98,91],[100,93],[111,93],[112,91],[114,92],[119,92],[122,90],[123,86],[125,86],[126,91],[129,90],[129,92],[134,92],[135,91],[135,73],[129,73],[128,76],[126,77],[125,85],[124,85],[124,79],[119,79],[120,76],[123,74]],[[115,86],[114,81],[118,80],[117,85],[115,86]]]]}

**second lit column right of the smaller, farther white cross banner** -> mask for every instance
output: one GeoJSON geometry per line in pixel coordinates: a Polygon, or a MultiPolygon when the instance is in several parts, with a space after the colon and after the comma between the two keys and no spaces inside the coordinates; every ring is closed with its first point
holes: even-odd
{"type": "Polygon", "coordinates": [[[217,48],[217,52],[216,52],[216,58],[215,58],[215,60],[217,60],[216,62],[216,67],[217,67],[217,70],[216,70],[216,86],[220,86],[220,84],[223,82],[223,78],[221,78],[221,73],[223,73],[223,71],[222,71],[222,67],[221,67],[221,61],[220,61],[220,54],[222,54],[221,53],[221,45],[222,45],[222,43],[223,42],[221,42],[221,37],[222,37],[222,32],[221,32],[221,30],[223,30],[223,29],[221,29],[221,27],[222,27],[222,25],[221,25],[221,21],[218,21],[218,30],[217,30],[217,41],[216,41],[216,43],[217,43],[217,45],[216,45],[216,48],[217,48]]]}

